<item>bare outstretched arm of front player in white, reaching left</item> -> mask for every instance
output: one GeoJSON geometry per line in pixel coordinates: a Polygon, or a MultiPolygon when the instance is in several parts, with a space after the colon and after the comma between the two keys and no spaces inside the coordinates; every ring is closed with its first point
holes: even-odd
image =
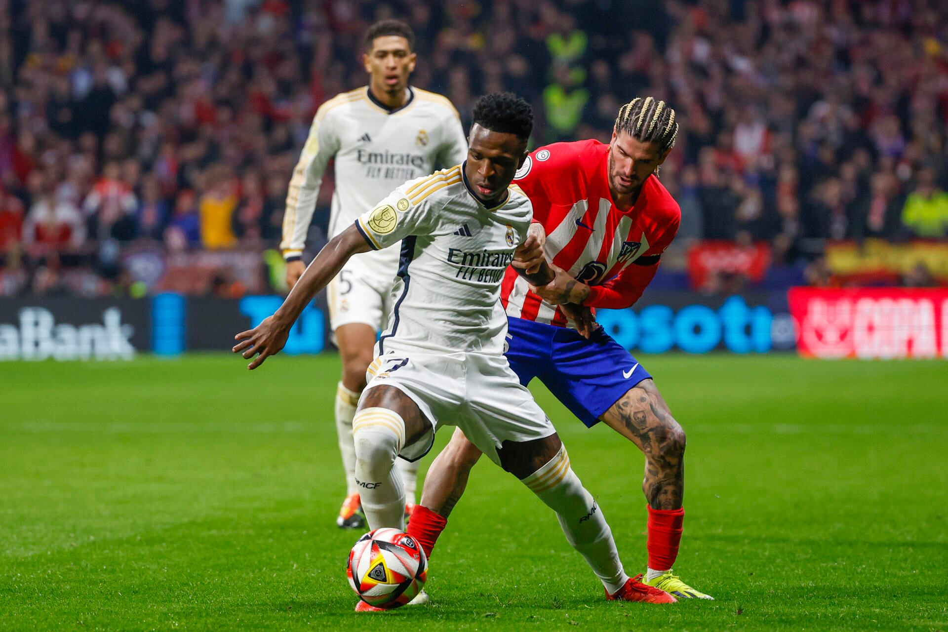
{"type": "Polygon", "coordinates": [[[371,249],[355,224],[343,230],[323,246],[273,316],[267,316],[253,329],[234,336],[237,344],[231,351],[241,353],[246,359],[258,354],[256,359],[247,365],[247,369],[254,370],[264,364],[267,357],[283,349],[286,336],[300,317],[303,308],[336,277],[345,262],[353,255],[371,249]]]}

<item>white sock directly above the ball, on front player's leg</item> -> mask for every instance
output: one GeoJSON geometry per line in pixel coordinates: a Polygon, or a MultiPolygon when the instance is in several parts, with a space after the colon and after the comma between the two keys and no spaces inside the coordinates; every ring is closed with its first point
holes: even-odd
{"type": "Polygon", "coordinates": [[[405,422],[388,408],[363,408],[353,419],[356,446],[356,488],[369,529],[404,530],[405,490],[394,468],[405,446],[405,422]]]}

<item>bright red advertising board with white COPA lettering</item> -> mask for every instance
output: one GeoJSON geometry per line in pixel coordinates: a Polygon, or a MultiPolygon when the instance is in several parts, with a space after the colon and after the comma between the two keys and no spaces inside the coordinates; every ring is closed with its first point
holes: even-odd
{"type": "Polygon", "coordinates": [[[794,287],[788,300],[801,355],[948,357],[948,290],[794,287]]]}

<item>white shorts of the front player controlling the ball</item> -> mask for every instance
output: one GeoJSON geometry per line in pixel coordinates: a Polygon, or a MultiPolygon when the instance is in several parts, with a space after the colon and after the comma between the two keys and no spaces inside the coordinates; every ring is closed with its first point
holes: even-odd
{"type": "Polygon", "coordinates": [[[421,408],[431,429],[399,456],[419,460],[428,454],[434,433],[456,425],[478,449],[498,465],[503,442],[528,442],[556,432],[533,395],[520,385],[502,355],[483,353],[386,353],[374,359],[368,386],[398,388],[421,408]]]}

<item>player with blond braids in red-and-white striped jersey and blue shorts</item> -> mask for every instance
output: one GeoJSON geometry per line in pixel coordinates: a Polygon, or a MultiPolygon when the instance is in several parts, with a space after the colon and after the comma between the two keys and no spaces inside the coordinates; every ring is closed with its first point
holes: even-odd
{"type": "MultiPolygon", "coordinates": [[[[657,177],[677,134],[675,111],[665,101],[640,98],[619,110],[610,144],[581,140],[532,153],[515,181],[533,204],[531,230],[556,280],[535,288],[508,269],[501,303],[508,316],[505,355],[520,383],[538,377],[584,424],[605,422],[645,454],[648,565],[641,583],[680,599],[711,599],[672,572],[684,522],[682,426],[629,352],[602,328],[570,321],[559,307],[625,308],[642,296],[681,220],[657,177]]],[[[457,431],[431,464],[409,525],[426,552],[479,457],[457,431]]]]}

